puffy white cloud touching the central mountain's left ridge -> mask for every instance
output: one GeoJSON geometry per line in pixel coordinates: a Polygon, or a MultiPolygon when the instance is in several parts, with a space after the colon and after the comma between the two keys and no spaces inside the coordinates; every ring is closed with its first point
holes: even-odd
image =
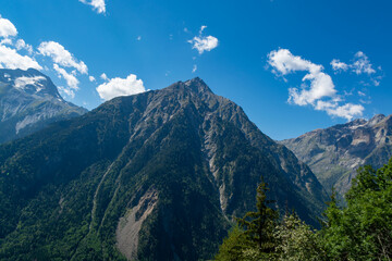
{"type": "Polygon", "coordinates": [[[112,78],[108,83],[97,87],[99,97],[103,100],[110,100],[119,96],[130,96],[146,91],[143,80],[137,76],[130,74],[126,78],[112,78]]]}

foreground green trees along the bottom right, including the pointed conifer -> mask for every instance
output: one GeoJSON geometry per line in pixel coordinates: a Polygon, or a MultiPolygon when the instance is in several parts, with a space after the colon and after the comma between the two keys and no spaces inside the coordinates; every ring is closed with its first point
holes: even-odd
{"type": "Polygon", "coordinates": [[[257,211],[236,219],[220,246],[217,261],[230,260],[391,260],[392,159],[373,170],[365,166],[339,207],[333,191],[315,231],[294,212],[279,219],[269,206],[267,185],[257,189],[257,211]]]}

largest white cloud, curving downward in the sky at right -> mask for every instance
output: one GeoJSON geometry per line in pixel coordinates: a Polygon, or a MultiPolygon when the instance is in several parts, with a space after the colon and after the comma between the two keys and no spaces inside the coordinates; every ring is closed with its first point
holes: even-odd
{"type": "MultiPolygon", "coordinates": [[[[338,62],[338,61],[336,61],[338,62]]],[[[302,57],[294,55],[287,49],[279,49],[268,54],[268,63],[272,72],[285,76],[295,72],[305,72],[302,88],[289,89],[289,102],[297,105],[311,105],[315,110],[326,111],[331,116],[345,117],[348,121],[360,116],[364,107],[346,103],[342,100],[330,75],[323,72],[323,66],[315,64],[302,57]]]]}

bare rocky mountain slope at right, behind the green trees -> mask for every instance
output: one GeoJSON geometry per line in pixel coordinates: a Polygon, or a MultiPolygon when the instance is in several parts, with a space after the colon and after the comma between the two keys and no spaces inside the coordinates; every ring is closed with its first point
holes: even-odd
{"type": "Polygon", "coordinates": [[[392,115],[355,120],[298,138],[281,141],[310,166],[321,184],[347,191],[356,170],[366,164],[380,167],[392,157],[392,115]]]}

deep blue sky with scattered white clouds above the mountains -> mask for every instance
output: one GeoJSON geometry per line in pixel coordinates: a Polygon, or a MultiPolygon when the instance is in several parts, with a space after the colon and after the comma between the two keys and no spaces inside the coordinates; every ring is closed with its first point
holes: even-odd
{"type": "Polygon", "coordinates": [[[17,34],[3,30],[0,65],[24,66],[1,63],[2,45],[88,109],[199,76],[284,139],[392,113],[391,11],[388,0],[1,0],[17,34]]]}

